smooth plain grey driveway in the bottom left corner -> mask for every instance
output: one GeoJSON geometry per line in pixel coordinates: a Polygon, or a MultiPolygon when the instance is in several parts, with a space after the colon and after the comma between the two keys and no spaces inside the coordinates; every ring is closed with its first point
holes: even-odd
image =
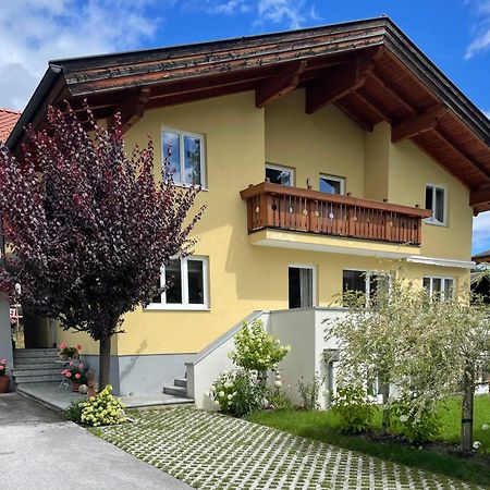
{"type": "Polygon", "coordinates": [[[0,464],[2,490],[189,489],[14,393],[0,395],[0,464]]]}

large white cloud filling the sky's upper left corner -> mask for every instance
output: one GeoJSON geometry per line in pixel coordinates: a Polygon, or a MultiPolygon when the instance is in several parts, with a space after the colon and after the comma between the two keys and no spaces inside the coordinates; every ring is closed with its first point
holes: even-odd
{"type": "Polygon", "coordinates": [[[15,0],[0,9],[0,107],[23,109],[48,61],[135,48],[154,0],[15,0]]]}

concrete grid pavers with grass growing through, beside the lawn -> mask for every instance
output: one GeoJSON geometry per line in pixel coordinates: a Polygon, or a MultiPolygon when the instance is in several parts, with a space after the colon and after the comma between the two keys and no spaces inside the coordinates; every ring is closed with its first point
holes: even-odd
{"type": "Polygon", "coordinates": [[[198,489],[479,488],[193,408],[140,411],[96,432],[198,489]]]}

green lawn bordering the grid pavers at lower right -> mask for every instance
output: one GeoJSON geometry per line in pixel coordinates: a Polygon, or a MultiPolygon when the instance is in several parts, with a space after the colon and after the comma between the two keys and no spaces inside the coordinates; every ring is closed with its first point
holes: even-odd
{"type": "MultiPolygon", "coordinates": [[[[441,406],[443,428],[439,440],[456,446],[460,441],[460,399],[453,399],[441,406]]],[[[415,448],[396,441],[375,441],[364,436],[348,436],[339,431],[338,420],[331,412],[259,412],[248,416],[248,420],[273,427],[296,436],[302,436],[333,445],[358,451],[371,456],[406,466],[445,475],[467,482],[490,488],[490,453],[482,457],[460,457],[456,454],[436,452],[430,448],[415,448]]],[[[490,430],[481,426],[490,422],[490,395],[475,397],[475,440],[490,450],[490,430]]],[[[373,429],[381,427],[381,414],[375,417],[373,429]]]]}

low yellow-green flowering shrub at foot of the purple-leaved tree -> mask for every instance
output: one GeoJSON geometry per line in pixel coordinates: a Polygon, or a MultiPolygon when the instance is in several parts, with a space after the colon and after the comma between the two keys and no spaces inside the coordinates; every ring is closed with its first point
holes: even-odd
{"type": "Polygon", "coordinates": [[[101,392],[90,396],[86,402],[79,402],[81,421],[88,426],[112,426],[126,420],[121,400],[111,394],[112,387],[108,384],[101,392]]]}

